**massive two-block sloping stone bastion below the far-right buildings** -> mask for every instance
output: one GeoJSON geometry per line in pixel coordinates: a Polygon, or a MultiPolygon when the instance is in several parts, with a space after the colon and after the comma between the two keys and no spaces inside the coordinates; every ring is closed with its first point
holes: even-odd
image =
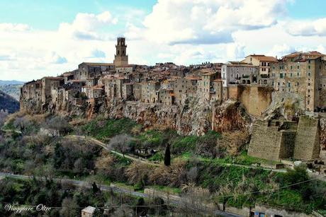
{"type": "Polygon", "coordinates": [[[319,121],[301,116],[299,122],[257,120],[253,124],[248,155],[267,160],[319,157],[319,121]]]}

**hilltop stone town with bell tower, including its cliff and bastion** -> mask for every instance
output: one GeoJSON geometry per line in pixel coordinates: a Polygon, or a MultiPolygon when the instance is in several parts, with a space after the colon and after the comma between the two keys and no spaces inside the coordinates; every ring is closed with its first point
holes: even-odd
{"type": "Polygon", "coordinates": [[[26,83],[21,110],[87,118],[102,112],[181,134],[252,129],[249,155],[311,160],[325,143],[318,121],[326,111],[325,57],[315,51],[281,59],[251,54],[224,64],[145,66],[129,64],[125,38],[118,37],[113,63],[83,62],[61,76],[26,83]]]}

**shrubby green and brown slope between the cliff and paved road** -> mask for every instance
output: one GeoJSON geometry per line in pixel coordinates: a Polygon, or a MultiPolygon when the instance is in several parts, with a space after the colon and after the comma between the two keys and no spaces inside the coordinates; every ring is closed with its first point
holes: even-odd
{"type": "MultiPolygon", "coordinates": [[[[45,117],[43,123],[38,125],[46,127],[45,123],[50,119],[55,117],[45,117]]],[[[15,121],[16,119],[13,123],[15,121]]],[[[13,124],[13,127],[15,126],[28,129],[22,128],[23,124],[13,124]]],[[[60,127],[67,126],[59,125],[58,129],[60,127]]],[[[28,165],[33,164],[38,169],[43,167],[40,170],[40,175],[43,176],[49,173],[69,177],[94,175],[101,182],[132,184],[135,189],[143,189],[146,186],[163,189],[172,187],[174,192],[182,192],[184,197],[194,198],[193,192],[201,192],[201,197],[196,198],[205,196],[207,201],[236,207],[269,204],[306,213],[325,209],[325,182],[308,182],[305,168],[298,167],[283,174],[225,165],[250,165],[259,162],[259,159],[247,156],[244,151],[247,134],[240,131],[229,134],[210,131],[205,136],[180,136],[171,130],[144,131],[140,125],[129,119],[107,120],[103,117],[83,126],[75,125],[69,128],[108,141],[108,144],[113,141],[118,143],[127,135],[128,148],[125,150],[132,154],[136,148],[155,149],[158,152],[152,156],[152,160],[162,161],[165,147],[169,144],[172,163],[170,166],[162,163],[157,167],[132,163],[127,158],[112,155],[84,140],[76,142],[54,137],[55,141],[49,142],[46,136],[33,136],[33,139],[29,140],[28,134],[35,135],[38,132],[26,131],[22,136],[4,136],[1,139],[1,168],[28,174],[30,171],[26,169],[30,168],[28,165]],[[303,183],[296,185],[297,182],[303,183]]],[[[118,146],[113,148],[120,150],[118,146]]],[[[30,174],[33,174],[33,171],[30,174]]]]}

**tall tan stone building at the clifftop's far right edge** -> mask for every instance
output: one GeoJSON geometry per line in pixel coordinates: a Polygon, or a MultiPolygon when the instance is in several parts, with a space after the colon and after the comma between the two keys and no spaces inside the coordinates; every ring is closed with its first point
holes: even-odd
{"type": "Polygon", "coordinates": [[[295,52],[271,64],[277,92],[293,93],[304,100],[304,109],[326,107],[326,61],[319,52],[295,52]]]}

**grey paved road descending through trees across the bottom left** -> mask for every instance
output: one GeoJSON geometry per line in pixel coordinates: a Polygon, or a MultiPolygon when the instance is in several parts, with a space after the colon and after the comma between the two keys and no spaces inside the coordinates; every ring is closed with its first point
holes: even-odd
{"type": "MultiPolygon", "coordinates": [[[[23,180],[33,179],[33,177],[28,176],[28,175],[16,175],[16,174],[11,174],[11,173],[6,173],[6,172],[0,172],[0,177],[13,177],[13,178],[18,178],[18,179],[23,179],[23,180]]],[[[40,177],[38,177],[38,178],[40,178],[40,177]]],[[[71,179],[64,179],[64,178],[53,178],[52,180],[54,180],[55,182],[69,182],[71,184],[74,184],[74,186],[77,186],[77,187],[87,187],[87,188],[91,187],[91,183],[86,182],[86,181],[81,181],[81,180],[71,180],[71,179]]],[[[108,186],[108,185],[105,185],[105,184],[101,184],[98,187],[100,187],[101,190],[103,190],[103,191],[113,191],[113,192],[116,192],[116,193],[129,194],[129,195],[132,195],[134,197],[150,198],[149,194],[144,194],[144,193],[141,193],[141,192],[134,192],[134,191],[132,191],[130,189],[125,189],[123,187],[118,187],[116,185],[108,186]]],[[[184,202],[182,202],[182,201],[177,201],[177,200],[170,199],[169,204],[172,204],[174,206],[185,206],[186,205],[186,207],[188,209],[192,209],[191,204],[184,204],[184,202]]],[[[203,209],[202,212],[206,212],[206,210],[203,209]]],[[[209,213],[212,213],[212,212],[209,211],[209,213]]],[[[218,216],[240,217],[240,216],[238,216],[236,214],[228,213],[228,212],[225,212],[225,211],[220,211],[218,209],[214,210],[213,213],[215,213],[215,215],[218,215],[218,216]]]]}

